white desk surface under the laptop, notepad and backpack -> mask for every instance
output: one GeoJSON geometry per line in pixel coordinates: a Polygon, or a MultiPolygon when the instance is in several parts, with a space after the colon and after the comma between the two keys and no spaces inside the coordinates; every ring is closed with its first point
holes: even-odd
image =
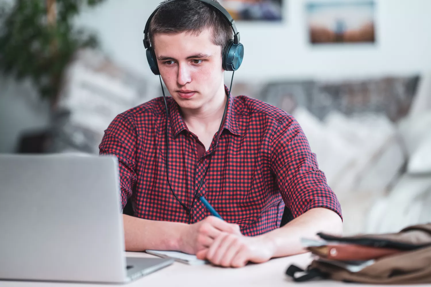
{"type": "MultiPolygon", "coordinates": [[[[128,257],[155,257],[146,253],[126,252],[128,257]]],[[[24,282],[24,281],[0,281],[0,287],[88,287],[88,286],[187,286],[187,287],[228,287],[228,286],[378,286],[364,284],[346,284],[335,281],[311,281],[295,283],[284,272],[290,264],[301,268],[311,262],[311,256],[300,254],[284,258],[272,259],[262,264],[250,264],[243,268],[221,268],[212,265],[187,265],[174,262],[171,266],[142,277],[125,285],[103,285],[103,284],[72,284],[72,283],[47,283],[47,282],[24,282]]],[[[395,285],[391,285],[395,286],[395,285]]],[[[397,285],[408,286],[408,285],[397,285]]],[[[410,285],[411,286],[411,285],[410,285]]],[[[420,286],[420,285],[415,285],[420,286]]],[[[429,285],[427,285],[429,286],[429,285]]]]}

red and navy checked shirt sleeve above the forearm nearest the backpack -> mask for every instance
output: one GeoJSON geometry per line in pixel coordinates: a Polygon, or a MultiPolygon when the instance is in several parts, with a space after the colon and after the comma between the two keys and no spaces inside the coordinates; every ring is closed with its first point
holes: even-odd
{"type": "Polygon", "coordinates": [[[294,218],[316,207],[333,210],[343,218],[337,196],[319,170],[302,128],[291,116],[274,131],[270,161],[281,196],[294,218]]]}

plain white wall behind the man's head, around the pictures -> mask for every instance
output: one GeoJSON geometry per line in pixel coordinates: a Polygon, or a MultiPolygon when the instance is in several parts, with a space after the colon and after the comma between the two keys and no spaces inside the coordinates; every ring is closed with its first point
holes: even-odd
{"type": "MultiPolygon", "coordinates": [[[[236,79],[369,77],[431,70],[431,1],[375,1],[375,45],[309,45],[305,0],[285,0],[282,24],[237,22],[245,56],[236,79]]],[[[96,29],[114,59],[150,74],[142,37],[148,16],[160,2],[107,0],[78,22],[96,29]]]]}

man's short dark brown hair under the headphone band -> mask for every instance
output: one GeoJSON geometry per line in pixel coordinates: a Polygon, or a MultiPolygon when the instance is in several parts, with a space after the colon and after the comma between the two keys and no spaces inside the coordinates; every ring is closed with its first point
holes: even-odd
{"type": "Polygon", "coordinates": [[[221,46],[222,51],[228,41],[233,39],[234,33],[228,20],[211,5],[195,0],[174,1],[161,6],[154,14],[148,29],[148,39],[154,43],[157,33],[187,32],[197,36],[206,28],[212,31],[212,43],[221,46]]]}

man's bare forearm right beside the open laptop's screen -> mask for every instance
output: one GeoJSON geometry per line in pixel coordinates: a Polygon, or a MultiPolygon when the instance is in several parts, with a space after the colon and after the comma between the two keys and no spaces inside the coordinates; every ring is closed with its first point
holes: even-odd
{"type": "Polygon", "coordinates": [[[187,224],[155,221],[123,214],[127,251],[180,250],[181,234],[187,224]]]}

